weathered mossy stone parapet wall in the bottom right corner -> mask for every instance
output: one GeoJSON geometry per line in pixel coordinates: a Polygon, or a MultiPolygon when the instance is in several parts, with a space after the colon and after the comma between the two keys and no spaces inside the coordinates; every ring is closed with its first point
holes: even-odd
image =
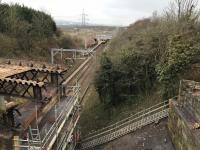
{"type": "Polygon", "coordinates": [[[199,150],[200,82],[182,80],[178,100],[170,100],[168,129],[177,150],[199,150]]]}

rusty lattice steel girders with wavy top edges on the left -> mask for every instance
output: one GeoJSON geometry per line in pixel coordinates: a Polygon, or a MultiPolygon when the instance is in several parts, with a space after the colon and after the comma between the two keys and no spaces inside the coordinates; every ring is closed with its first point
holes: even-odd
{"type": "MultiPolygon", "coordinates": [[[[7,67],[13,67],[8,65],[7,67]]],[[[46,96],[46,87],[58,86],[65,80],[66,70],[61,70],[59,67],[47,68],[43,65],[42,68],[31,65],[26,71],[18,71],[17,74],[9,73],[9,76],[0,78],[0,94],[9,96],[18,96],[24,98],[31,98],[41,101],[46,96]]],[[[16,67],[17,68],[17,67],[16,67]]],[[[23,68],[20,63],[20,69],[23,68]]],[[[1,68],[0,68],[1,69],[1,68]]],[[[13,71],[15,72],[15,71],[13,71]]]]}

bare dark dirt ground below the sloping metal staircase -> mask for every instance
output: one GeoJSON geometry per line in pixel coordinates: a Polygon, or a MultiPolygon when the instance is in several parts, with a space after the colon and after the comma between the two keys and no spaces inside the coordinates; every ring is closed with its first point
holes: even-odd
{"type": "Polygon", "coordinates": [[[175,150],[167,131],[167,119],[151,124],[94,150],[175,150]]]}

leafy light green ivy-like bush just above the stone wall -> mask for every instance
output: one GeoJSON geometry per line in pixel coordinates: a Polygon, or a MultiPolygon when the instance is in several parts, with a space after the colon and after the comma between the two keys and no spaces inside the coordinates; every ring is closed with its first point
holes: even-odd
{"type": "Polygon", "coordinates": [[[164,98],[176,94],[177,81],[191,68],[193,61],[200,54],[200,45],[193,38],[175,35],[169,42],[167,61],[157,65],[158,80],[164,88],[164,98]]]}

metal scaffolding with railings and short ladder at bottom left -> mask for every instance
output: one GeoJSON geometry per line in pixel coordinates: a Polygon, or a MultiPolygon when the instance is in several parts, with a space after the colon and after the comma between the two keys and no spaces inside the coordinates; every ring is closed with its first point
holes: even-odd
{"type": "Polygon", "coordinates": [[[50,150],[54,145],[56,145],[56,150],[60,150],[67,146],[69,138],[73,134],[80,117],[80,86],[79,84],[76,84],[75,86],[69,86],[65,88],[65,90],[65,93],[68,94],[68,98],[64,98],[66,105],[63,106],[60,111],[58,111],[57,108],[60,107],[59,99],[58,104],[56,104],[54,107],[55,120],[49,126],[48,131],[46,131],[46,127],[39,129],[36,117],[36,125],[34,127],[29,127],[29,131],[25,139],[17,136],[14,137],[15,150],[50,150]],[[62,132],[61,140],[59,140],[58,137],[60,136],[64,127],[67,127],[68,132],[64,132],[64,134],[62,132]]]}

